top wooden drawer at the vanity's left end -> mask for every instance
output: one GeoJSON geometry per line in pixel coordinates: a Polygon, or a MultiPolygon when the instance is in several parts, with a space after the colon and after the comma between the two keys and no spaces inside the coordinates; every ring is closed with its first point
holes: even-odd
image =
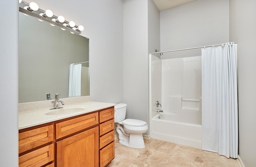
{"type": "Polygon", "coordinates": [[[53,141],[53,125],[36,128],[19,134],[19,153],[53,141]]]}

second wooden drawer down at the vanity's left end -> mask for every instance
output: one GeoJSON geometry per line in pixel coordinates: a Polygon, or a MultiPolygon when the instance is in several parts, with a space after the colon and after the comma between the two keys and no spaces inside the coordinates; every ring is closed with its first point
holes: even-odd
{"type": "Polygon", "coordinates": [[[36,149],[19,157],[19,167],[39,167],[54,160],[54,144],[36,149]]]}

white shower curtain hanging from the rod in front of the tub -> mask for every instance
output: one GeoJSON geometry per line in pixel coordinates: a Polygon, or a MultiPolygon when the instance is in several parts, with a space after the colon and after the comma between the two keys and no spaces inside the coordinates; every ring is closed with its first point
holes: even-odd
{"type": "Polygon", "coordinates": [[[202,49],[202,149],[238,157],[236,44],[202,49]]]}

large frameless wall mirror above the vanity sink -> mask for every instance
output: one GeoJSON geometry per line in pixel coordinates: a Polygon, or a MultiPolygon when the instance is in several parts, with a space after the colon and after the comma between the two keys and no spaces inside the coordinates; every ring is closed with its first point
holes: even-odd
{"type": "MultiPolygon", "coordinates": [[[[19,103],[68,97],[71,63],[89,61],[89,39],[19,13],[19,103]]],[[[89,63],[82,63],[81,96],[90,95],[89,63]]]]}

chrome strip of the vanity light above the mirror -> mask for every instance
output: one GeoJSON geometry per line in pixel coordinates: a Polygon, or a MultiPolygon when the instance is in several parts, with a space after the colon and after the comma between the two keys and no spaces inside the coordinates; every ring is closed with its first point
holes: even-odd
{"type": "MultiPolygon", "coordinates": [[[[20,1],[19,1],[19,2],[20,2],[20,1]]],[[[29,6],[29,5],[30,5],[30,4],[29,4],[28,2],[21,1],[21,2],[20,2],[20,5],[19,5],[19,10],[20,10],[20,12],[22,12],[22,13],[25,14],[25,15],[30,15],[30,16],[32,16],[32,17],[34,17],[34,18],[36,18],[36,19],[38,19],[38,20],[40,20],[40,21],[48,22],[48,23],[50,23],[52,26],[58,26],[58,27],[60,27],[61,29],[68,30],[68,31],[70,31],[71,33],[80,34],[81,31],[82,31],[83,28],[84,28],[83,26],[82,26],[82,29],[79,28],[79,27],[81,27],[81,25],[80,25],[80,26],[76,26],[76,25],[75,25],[73,28],[70,27],[70,26],[65,26],[65,25],[69,24],[69,22],[67,22],[66,20],[64,20],[64,22],[55,22],[55,21],[53,21],[53,20],[55,20],[55,19],[58,18],[58,16],[55,16],[55,15],[53,15],[52,17],[43,17],[43,16],[40,15],[40,13],[45,13],[45,11],[42,10],[42,9],[40,9],[40,8],[38,8],[38,10],[36,10],[36,11],[32,10],[32,12],[31,12],[30,10],[24,9],[25,6],[29,6]],[[63,24],[64,24],[64,25],[63,25],[63,24]]],[[[71,22],[72,22],[72,21],[71,21],[71,22]]]]}

